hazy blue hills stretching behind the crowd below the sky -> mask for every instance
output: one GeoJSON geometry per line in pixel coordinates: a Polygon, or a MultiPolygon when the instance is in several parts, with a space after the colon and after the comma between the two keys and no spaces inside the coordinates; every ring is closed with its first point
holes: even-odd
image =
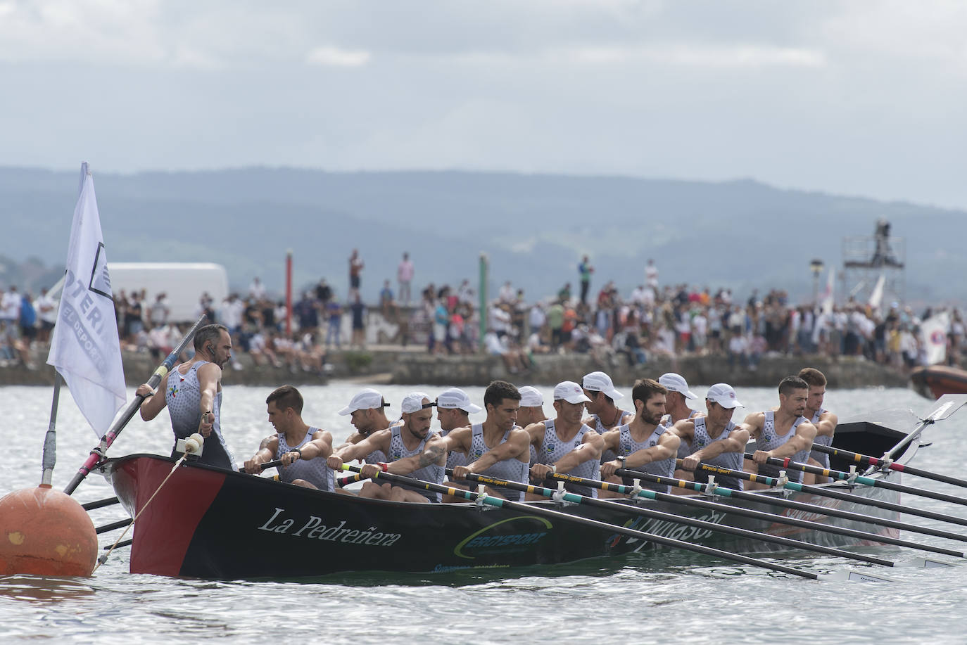
{"type": "MultiPolygon", "coordinates": [[[[286,249],[295,283],[327,277],[346,291],[349,251],[360,249],[363,294],[374,301],[408,250],[416,284],[476,283],[490,260],[490,288],[505,280],[529,299],[577,286],[583,253],[597,289],[624,293],[643,281],[649,257],[662,283],[728,286],[745,298],[785,288],[811,298],[812,258],[840,266],[842,239],[871,236],[876,220],[905,239],[906,300],[967,296],[962,211],[819,192],[749,180],[704,183],[628,177],[477,172],[331,173],[290,168],[98,173],[95,187],[110,261],[214,261],[244,289],[253,276],[280,290],[286,249]]],[[[0,255],[39,258],[60,275],[77,173],[0,168],[0,255]]],[[[902,245],[894,240],[894,248],[902,245]]],[[[0,284],[17,276],[8,270],[0,284]]],[[[825,280],[825,274],[823,276],[825,280]]],[[[836,284],[837,290],[841,285],[836,284]]]]}

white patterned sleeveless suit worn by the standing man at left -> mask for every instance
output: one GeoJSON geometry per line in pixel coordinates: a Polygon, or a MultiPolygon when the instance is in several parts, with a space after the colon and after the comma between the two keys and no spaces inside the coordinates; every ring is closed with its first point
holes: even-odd
{"type": "MultiPolygon", "coordinates": [[[[192,433],[198,431],[201,423],[201,385],[198,383],[198,368],[207,361],[198,361],[190,366],[187,374],[182,374],[175,367],[168,372],[167,387],[164,391],[164,401],[168,406],[171,417],[171,429],[176,439],[188,439],[192,433]]],[[[235,469],[235,458],[228,450],[224,437],[221,435],[221,393],[215,395],[212,405],[215,414],[215,424],[212,433],[205,437],[199,463],[207,463],[228,470],[235,469]]],[[[173,454],[172,454],[173,455],[173,454]]]]}

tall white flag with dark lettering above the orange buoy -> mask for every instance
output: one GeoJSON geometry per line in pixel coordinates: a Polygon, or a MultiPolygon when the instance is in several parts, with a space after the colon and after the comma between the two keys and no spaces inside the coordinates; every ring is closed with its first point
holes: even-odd
{"type": "Polygon", "coordinates": [[[80,166],[80,196],[47,365],[57,368],[87,423],[103,437],[127,394],[101,217],[87,163],[80,166]]]}

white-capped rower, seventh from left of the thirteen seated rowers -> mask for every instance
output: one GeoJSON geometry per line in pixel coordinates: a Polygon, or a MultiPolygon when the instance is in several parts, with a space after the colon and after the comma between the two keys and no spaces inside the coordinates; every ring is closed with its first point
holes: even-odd
{"type": "MultiPolygon", "coordinates": [[[[531,445],[537,451],[537,463],[531,466],[531,477],[543,482],[551,473],[597,480],[601,473],[601,435],[581,423],[584,404],[581,386],[564,381],[554,387],[554,410],[557,417],[527,426],[531,445]]],[[[580,484],[567,484],[571,492],[590,497],[598,496],[598,489],[580,484]]],[[[533,499],[542,499],[533,497],[533,499]]]]}

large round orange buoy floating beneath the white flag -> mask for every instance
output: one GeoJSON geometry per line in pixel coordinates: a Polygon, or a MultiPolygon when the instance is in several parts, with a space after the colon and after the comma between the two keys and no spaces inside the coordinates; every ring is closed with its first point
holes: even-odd
{"type": "Polygon", "coordinates": [[[97,558],[94,522],[70,495],[42,484],[0,499],[0,575],[90,575],[97,558]]]}

